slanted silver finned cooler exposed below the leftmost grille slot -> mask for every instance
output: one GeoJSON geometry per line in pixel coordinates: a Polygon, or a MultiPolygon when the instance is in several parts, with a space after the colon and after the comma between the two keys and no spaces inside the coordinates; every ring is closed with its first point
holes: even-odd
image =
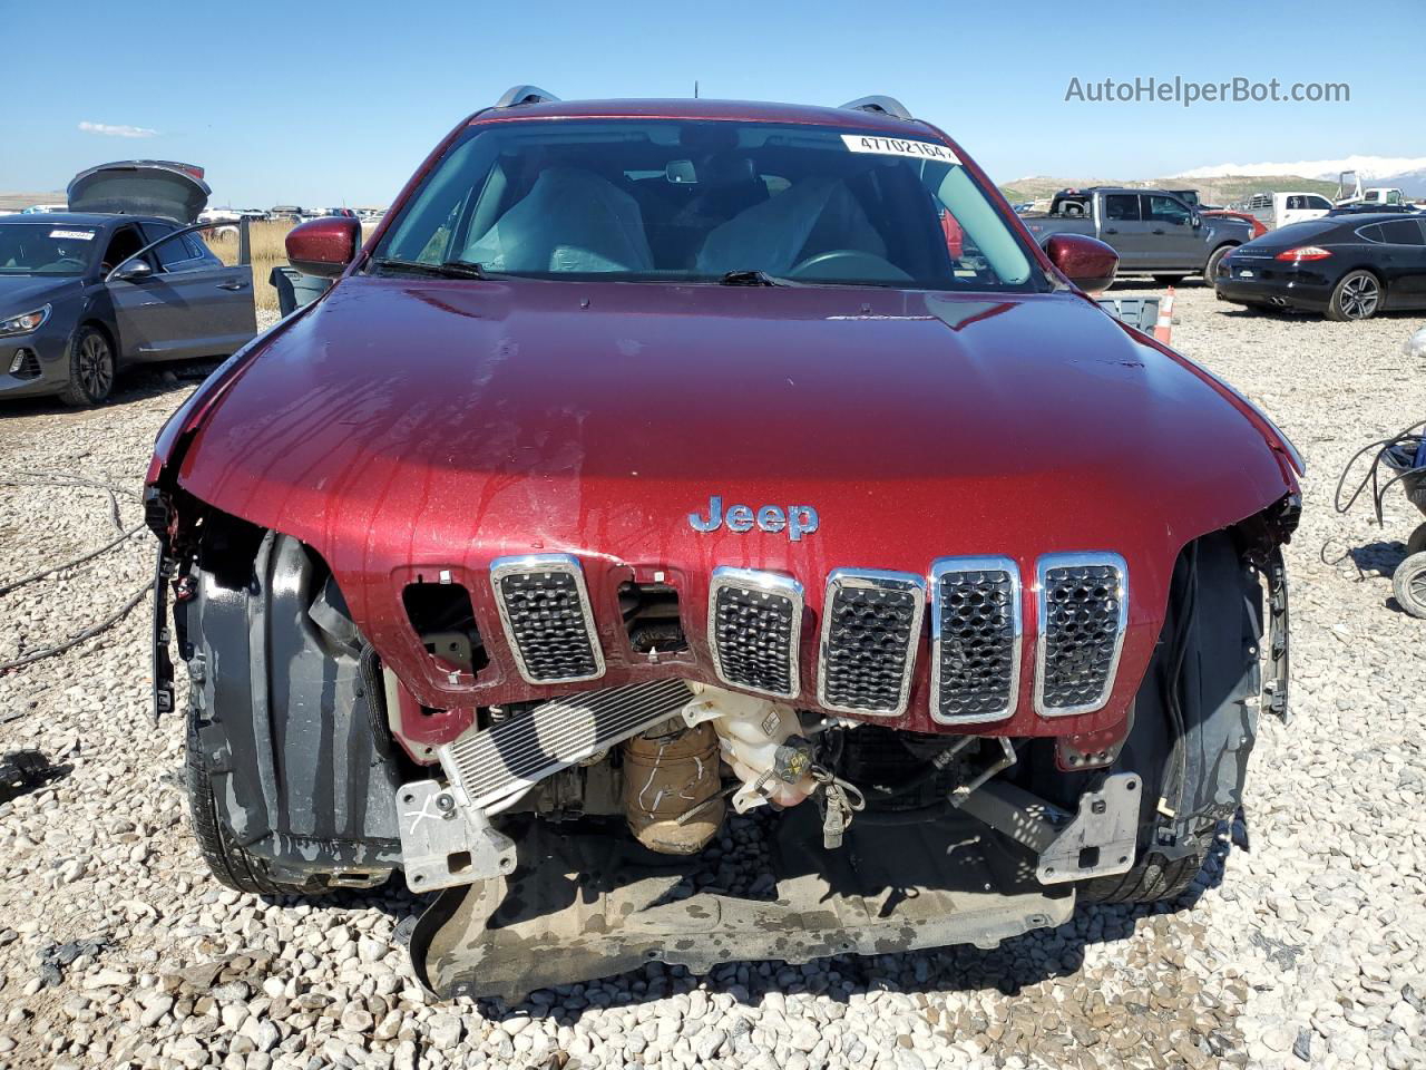
{"type": "Polygon", "coordinates": [[[488,806],[674,716],[692,696],[683,681],[569,695],[469,730],[439,748],[438,756],[471,805],[488,806]]]}

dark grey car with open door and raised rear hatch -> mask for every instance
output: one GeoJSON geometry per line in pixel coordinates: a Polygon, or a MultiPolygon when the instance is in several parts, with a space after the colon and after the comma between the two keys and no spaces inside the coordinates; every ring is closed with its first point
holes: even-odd
{"type": "Polygon", "coordinates": [[[185,230],[208,200],[197,168],[104,164],[68,193],[67,213],[0,220],[0,399],[91,405],[123,364],[227,357],[255,334],[252,268],[185,230]]]}

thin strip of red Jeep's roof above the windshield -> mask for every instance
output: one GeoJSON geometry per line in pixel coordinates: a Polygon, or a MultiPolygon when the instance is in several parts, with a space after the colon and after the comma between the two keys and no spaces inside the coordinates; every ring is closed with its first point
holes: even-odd
{"type": "Polygon", "coordinates": [[[506,108],[483,108],[471,123],[516,118],[713,118],[757,123],[811,123],[851,130],[884,130],[906,137],[913,131],[930,133],[918,120],[896,118],[877,111],[813,107],[810,104],[773,104],[752,100],[707,98],[630,98],[630,100],[548,100],[506,108]]]}

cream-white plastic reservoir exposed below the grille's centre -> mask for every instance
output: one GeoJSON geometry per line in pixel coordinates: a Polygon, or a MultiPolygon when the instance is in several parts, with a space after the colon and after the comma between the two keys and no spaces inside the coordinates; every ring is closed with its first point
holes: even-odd
{"type": "Polygon", "coordinates": [[[723,760],[743,782],[733,796],[734,810],[746,813],[764,802],[796,806],[813,793],[810,776],[787,783],[773,775],[777,748],[801,728],[791,706],[706,683],[692,686],[694,698],[683,708],[683,719],[690,726],[712,722],[717,732],[723,760]]]}

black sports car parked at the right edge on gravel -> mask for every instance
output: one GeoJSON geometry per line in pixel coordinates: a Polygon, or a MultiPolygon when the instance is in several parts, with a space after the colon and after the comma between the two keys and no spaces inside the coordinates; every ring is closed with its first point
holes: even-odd
{"type": "Polygon", "coordinates": [[[1235,248],[1214,285],[1221,301],[1329,320],[1426,308],[1426,221],[1379,211],[1293,223],[1235,248]]]}

